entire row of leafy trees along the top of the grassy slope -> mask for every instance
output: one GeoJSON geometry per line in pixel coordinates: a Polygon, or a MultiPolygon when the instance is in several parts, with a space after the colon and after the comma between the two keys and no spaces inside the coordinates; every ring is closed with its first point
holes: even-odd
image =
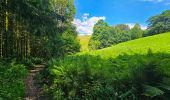
{"type": "Polygon", "coordinates": [[[142,30],[141,26],[137,23],[130,29],[130,27],[125,24],[109,26],[104,20],[99,20],[94,25],[93,34],[89,41],[89,49],[102,49],[121,42],[169,32],[170,10],[151,17],[148,23],[148,28],[142,30]]]}

